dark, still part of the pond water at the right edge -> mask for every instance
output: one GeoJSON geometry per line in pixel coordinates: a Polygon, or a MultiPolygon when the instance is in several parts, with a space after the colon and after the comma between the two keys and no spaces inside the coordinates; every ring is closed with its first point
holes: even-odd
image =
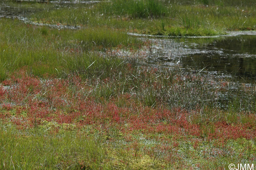
{"type": "Polygon", "coordinates": [[[193,48],[198,53],[182,56],[183,67],[206,67],[233,76],[255,79],[256,76],[256,36],[240,35],[214,40],[208,44],[198,44],[193,48]]]}

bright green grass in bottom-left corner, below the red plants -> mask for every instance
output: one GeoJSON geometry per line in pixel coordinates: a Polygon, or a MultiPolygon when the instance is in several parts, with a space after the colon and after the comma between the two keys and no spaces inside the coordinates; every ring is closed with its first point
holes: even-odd
{"type": "Polygon", "coordinates": [[[76,132],[45,134],[39,129],[18,131],[0,127],[0,169],[99,169],[104,143],[76,132]]]}

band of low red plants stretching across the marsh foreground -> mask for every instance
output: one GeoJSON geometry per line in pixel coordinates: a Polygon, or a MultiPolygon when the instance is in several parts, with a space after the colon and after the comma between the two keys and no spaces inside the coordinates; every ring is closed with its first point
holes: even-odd
{"type": "MultiPolygon", "coordinates": [[[[156,73],[157,70],[150,72],[156,73]]],[[[146,74],[148,72],[141,73],[141,75],[146,74]]],[[[176,80],[182,81],[178,76],[176,80]]],[[[152,86],[150,83],[143,85],[152,86]]],[[[157,83],[154,87],[161,88],[157,83]]],[[[118,98],[112,98],[101,104],[95,102],[92,96],[84,95],[90,90],[91,87],[82,83],[79,76],[40,80],[27,75],[25,71],[14,73],[11,79],[5,80],[0,85],[0,102],[1,99],[7,99],[13,103],[13,105],[0,103],[1,109],[5,110],[4,113],[0,113],[0,118],[7,120],[11,115],[11,122],[19,127],[34,127],[46,120],[59,124],[75,124],[78,128],[93,125],[99,131],[107,131],[111,124],[120,124],[117,128],[123,134],[139,131],[144,134],[161,133],[172,136],[202,137],[203,128],[206,128],[188,121],[188,117],[195,119],[198,116],[199,107],[191,112],[181,108],[169,110],[163,106],[151,108],[137,103],[131,94],[120,94],[118,98]],[[3,85],[11,88],[4,88],[3,85]],[[14,115],[11,113],[12,110],[15,110],[14,115]],[[101,126],[104,128],[100,128],[101,126]]],[[[246,116],[244,124],[237,122],[229,125],[226,122],[212,122],[214,130],[207,130],[208,140],[219,139],[224,143],[226,139],[254,138],[256,136],[255,121],[250,120],[255,120],[255,115],[246,116]]]]}

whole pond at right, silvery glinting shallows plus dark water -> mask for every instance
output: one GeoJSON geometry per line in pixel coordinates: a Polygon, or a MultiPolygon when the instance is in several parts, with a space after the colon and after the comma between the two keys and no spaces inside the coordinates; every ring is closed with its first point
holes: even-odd
{"type": "MultiPolygon", "coordinates": [[[[249,32],[255,33],[255,32],[249,32]]],[[[149,38],[145,61],[150,65],[181,68],[218,78],[255,80],[256,35],[212,38],[149,38]]]]}

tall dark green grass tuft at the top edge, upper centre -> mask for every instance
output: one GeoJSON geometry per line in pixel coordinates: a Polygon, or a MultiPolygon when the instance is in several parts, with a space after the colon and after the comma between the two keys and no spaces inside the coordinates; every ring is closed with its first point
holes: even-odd
{"type": "Polygon", "coordinates": [[[159,0],[112,0],[102,4],[102,10],[107,14],[129,15],[132,18],[158,18],[167,12],[159,0]]]}

